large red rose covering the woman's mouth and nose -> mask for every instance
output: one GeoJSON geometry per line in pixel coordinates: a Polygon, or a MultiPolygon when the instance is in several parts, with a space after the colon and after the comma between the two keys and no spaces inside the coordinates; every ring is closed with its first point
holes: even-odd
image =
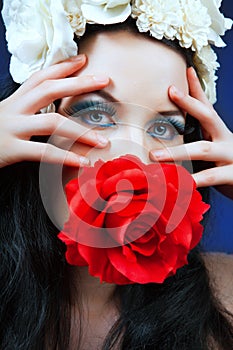
{"type": "Polygon", "coordinates": [[[209,208],[183,167],[131,155],[84,168],[66,195],[70,215],[58,237],[67,262],[116,284],[175,274],[200,241],[209,208]]]}

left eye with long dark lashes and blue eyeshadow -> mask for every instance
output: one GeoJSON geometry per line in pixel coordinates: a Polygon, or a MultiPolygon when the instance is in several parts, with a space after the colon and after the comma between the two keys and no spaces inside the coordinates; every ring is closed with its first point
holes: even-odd
{"type": "Polygon", "coordinates": [[[66,114],[74,118],[80,118],[83,123],[93,127],[108,128],[116,125],[113,119],[116,110],[111,103],[94,100],[80,101],[64,111],[66,114]]]}

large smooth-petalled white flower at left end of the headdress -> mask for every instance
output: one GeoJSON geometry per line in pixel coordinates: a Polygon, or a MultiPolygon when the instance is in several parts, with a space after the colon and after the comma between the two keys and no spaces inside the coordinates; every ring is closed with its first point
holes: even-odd
{"type": "Polygon", "coordinates": [[[5,0],[2,15],[17,83],[77,53],[61,0],[5,0]]]}

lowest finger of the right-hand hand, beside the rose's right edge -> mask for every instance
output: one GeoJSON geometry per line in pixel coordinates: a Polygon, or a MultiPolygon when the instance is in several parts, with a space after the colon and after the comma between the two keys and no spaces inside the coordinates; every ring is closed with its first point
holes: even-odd
{"type": "Polygon", "coordinates": [[[197,187],[233,185],[233,165],[211,168],[193,174],[197,187]]]}

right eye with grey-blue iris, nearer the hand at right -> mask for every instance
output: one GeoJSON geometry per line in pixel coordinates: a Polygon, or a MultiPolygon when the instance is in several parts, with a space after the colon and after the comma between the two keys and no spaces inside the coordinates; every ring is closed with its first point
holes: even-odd
{"type": "Polygon", "coordinates": [[[173,118],[156,119],[147,133],[154,138],[173,140],[176,136],[184,134],[184,124],[173,118]]]}

